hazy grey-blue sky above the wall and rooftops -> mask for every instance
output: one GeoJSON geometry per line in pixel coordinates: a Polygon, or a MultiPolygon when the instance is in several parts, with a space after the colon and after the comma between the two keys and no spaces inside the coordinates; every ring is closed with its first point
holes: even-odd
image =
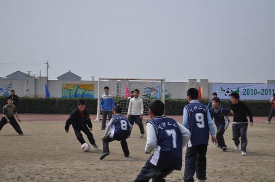
{"type": "Polygon", "coordinates": [[[48,60],[49,79],[71,70],[82,80],[263,83],[275,79],[274,9],[275,0],[0,0],[0,76],[44,76],[33,63],[48,60]]]}

